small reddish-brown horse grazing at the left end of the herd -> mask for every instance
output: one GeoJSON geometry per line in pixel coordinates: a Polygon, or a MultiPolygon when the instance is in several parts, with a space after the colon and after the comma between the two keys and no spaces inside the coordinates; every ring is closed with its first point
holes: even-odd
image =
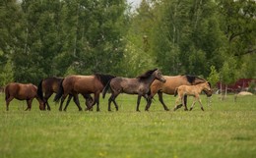
{"type": "Polygon", "coordinates": [[[43,109],[43,101],[37,96],[36,93],[37,87],[32,83],[23,84],[12,82],[6,85],[5,87],[5,101],[6,101],[6,110],[9,110],[9,103],[14,99],[18,100],[27,100],[27,109],[32,109],[32,100],[36,98],[39,102],[39,109],[43,109]]]}

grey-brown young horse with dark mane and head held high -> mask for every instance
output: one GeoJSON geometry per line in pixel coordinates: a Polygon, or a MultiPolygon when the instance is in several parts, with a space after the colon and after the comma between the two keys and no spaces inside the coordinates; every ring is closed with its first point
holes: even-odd
{"type": "Polygon", "coordinates": [[[108,111],[111,111],[110,105],[111,102],[114,103],[116,111],[118,111],[118,105],[115,102],[115,98],[121,93],[127,94],[138,94],[137,99],[137,111],[139,110],[139,105],[141,101],[141,97],[145,97],[147,100],[147,106],[150,102],[149,95],[151,93],[150,86],[155,79],[159,79],[161,82],[164,82],[165,79],[161,76],[160,70],[150,70],[145,74],[135,78],[135,79],[128,79],[128,78],[115,78],[111,79],[110,82],[106,85],[102,92],[102,96],[104,98],[107,89],[110,87],[111,96],[108,99],[108,111]]]}

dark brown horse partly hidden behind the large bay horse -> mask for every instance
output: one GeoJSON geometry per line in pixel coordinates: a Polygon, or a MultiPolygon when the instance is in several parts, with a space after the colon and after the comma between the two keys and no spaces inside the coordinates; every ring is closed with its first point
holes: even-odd
{"type": "MultiPolygon", "coordinates": [[[[45,105],[47,106],[47,110],[50,110],[50,106],[48,103],[48,99],[51,97],[53,93],[57,93],[59,89],[59,84],[63,78],[46,78],[41,79],[40,82],[37,85],[37,95],[40,97],[41,100],[43,100],[43,110],[45,110],[45,105]],[[44,96],[43,96],[44,94],[44,96]]],[[[66,106],[69,104],[70,100],[72,99],[72,95],[69,95],[68,101],[66,103],[66,106]]],[[[93,98],[91,95],[86,95],[86,104],[89,105],[89,102],[93,101],[93,98]]]]}

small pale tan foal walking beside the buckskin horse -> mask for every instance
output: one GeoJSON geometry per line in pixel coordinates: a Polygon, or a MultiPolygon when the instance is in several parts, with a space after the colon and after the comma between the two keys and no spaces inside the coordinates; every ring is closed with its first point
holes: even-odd
{"type": "Polygon", "coordinates": [[[190,96],[194,96],[194,101],[193,101],[193,103],[190,107],[190,111],[193,109],[196,101],[198,101],[200,103],[201,110],[204,111],[201,99],[199,98],[199,95],[200,95],[200,93],[202,92],[203,89],[211,91],[211,87],[209,86],[208,82],[203,82],[203,83],[199,83],[199,84],[196,84],[196,85],[180,85],[180,86],[178,86],[175,89],[175,92],[174,92],[174,96],[176,96],[178,94],[178,98],[176,99],[176,102],[175,102],[176,106],[174,107],[173,110],[175,111],[179,108],[178,105],[177,105],[177,103],[179,101],[181,101],[182,105],[185,106],[184,96],[185,95],[190,95],[190,96]]]}

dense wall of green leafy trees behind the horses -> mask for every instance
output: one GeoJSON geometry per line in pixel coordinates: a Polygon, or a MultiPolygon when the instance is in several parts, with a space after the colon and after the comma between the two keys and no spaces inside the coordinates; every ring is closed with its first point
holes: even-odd
{"type": "Polygon", "coordinates": [[[256,79],[255,0],[1,0],[0,86],[159,68],[256,79]]]}

